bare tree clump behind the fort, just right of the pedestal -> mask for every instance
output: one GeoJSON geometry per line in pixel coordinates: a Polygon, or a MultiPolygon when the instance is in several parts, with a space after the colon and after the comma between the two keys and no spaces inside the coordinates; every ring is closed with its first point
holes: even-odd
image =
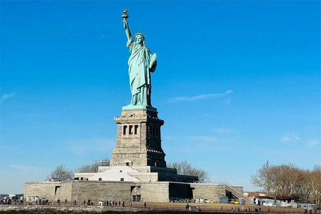
{"type": "Polygon", "coordinates": [[[207,171],[192,167],[192,164],[186,160],[182,162],[168,163],[167,167],[177,169],[177,174],[179,175],[198,176],[201,183],[210,182],[210,176],[207,171]]]}

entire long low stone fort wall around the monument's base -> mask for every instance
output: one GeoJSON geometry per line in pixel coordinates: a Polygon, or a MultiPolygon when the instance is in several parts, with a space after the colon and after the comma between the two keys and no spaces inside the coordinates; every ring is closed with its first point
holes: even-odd
{"type": "MultiPolygon", "coordinates": [[[[240,190],[242,187],[238,187],[240,190]]],[[[204,198],[218,201],[226,195],[225,185],[179,182],[126,182],[73,180],[67,182],[25,183],[25,196],[45,197],[56,201],[124,200],[140,195],[142,201],[168,202],[170,197],[204,198]]]]}

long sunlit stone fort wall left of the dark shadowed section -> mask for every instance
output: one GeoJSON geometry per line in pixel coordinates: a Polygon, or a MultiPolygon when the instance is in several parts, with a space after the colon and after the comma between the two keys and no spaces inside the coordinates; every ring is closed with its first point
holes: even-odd
{"type": "Polygon", "coordinates": [[[45,197],[56,201],[76,200],[124,200],[131,195],[140,194],[145,201],[167,202],[169,198],[168,182],[117,182],[117,181],[80,181],[67,182],[28,182],[25,183],[25,196],[45,197]],[[137,186],[137,187],[136,187],[137,186]],[[132,192],[136,191],[137,192],[132,192]]]}

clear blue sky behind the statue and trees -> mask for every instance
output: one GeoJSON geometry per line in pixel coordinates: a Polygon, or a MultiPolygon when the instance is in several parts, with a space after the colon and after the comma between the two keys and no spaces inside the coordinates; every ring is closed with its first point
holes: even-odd
{"type": "Polygon", "coordinates": [[[321,163],[319,1],[2,1],[0,193],[111,158],[130,102],[124,9],[158,55],[167,162],[244,190],[267,160],[321,163]]]}

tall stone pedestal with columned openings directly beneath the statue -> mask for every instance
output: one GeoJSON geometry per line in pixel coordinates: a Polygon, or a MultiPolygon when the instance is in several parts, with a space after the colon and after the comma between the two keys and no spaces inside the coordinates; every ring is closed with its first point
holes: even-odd
{"type": "Polygon", "coordinates": [[[114,118],[117,124],[116,146],[111,155],[111,166],[166,167],[162,149],[161,126],[164,120],[149,109],[122,110],[114,118]]]}

